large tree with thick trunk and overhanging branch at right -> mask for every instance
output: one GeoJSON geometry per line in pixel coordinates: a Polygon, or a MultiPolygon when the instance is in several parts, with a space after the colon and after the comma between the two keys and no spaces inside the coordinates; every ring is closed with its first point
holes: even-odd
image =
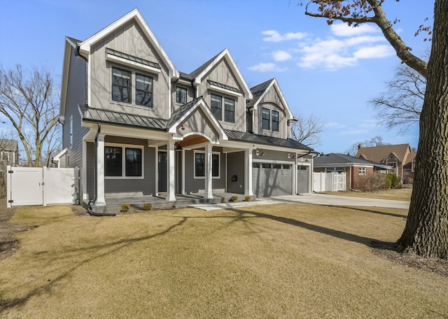
{"type": "MultiPolygon", "coordinates": [[[[302,2],[302,1],[301,1],[302,2]]],[[[448,257],[448,0],[435,0],[432,50],[428,63],[393,29],[384,13],[384,0],[311,0],[306,15],[323,17],[356,27],[374,23],[381,29],[397,56],[426,78],[426,94],[420,116],[419,149],[411,204],[405,229],[398,239],[402,250],[424,257],[448,257]],[[312,5],[314,12],[311,8],[312,5]]],[[[410,6],[402,3],[402,6],[410,6]]],[[[420,27],[419,31],[428,31],[420,27]]],[[[419,32],[417,31],[417,33],[419,32]]],[[[431,31],[429,31],[431,32],[431,31]]]]}

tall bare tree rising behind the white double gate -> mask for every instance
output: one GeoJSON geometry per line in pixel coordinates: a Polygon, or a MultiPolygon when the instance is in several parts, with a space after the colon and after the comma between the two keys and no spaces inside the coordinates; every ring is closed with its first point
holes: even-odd
{"type": "Polygon", "coordinates": [[[20,65],[0,66],[0,113],[17,132],[30,166],[41,166],[59,148],[58,100],[50,71],[34,68],[25,74],[20,65]]]}

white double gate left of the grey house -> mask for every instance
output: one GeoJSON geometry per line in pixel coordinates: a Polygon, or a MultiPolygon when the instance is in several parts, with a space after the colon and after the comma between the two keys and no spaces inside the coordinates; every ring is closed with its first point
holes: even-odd
{"type": "Polygon", "coordinates": [[[73,204],[79,169],[11,167],[7,171],[7,206],[73,204]]]}

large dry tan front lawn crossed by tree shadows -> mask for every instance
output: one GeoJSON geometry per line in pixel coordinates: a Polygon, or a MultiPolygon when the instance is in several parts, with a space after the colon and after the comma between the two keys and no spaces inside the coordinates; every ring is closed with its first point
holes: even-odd
{"type": "Polygon", "coordinates": [[[447,318],[448,278],[390,262],[405,210],[278,204],[82,217],[18,208],[2,318],[447,318]]]}

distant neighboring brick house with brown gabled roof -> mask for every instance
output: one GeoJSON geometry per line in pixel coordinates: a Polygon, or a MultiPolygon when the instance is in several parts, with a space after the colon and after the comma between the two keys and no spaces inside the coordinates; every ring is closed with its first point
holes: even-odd
{"type": "Polygon", "coordinates": [[[398,176],[400,183],[407,182],[409,178],[414,178],[414,165],[412,165],[412,162],[415,159],[415,155],[412,155],[409,144],[373,146],[370,148],[363,148],[362,145],[359,145],[358,153],[355,156],[391,166],[391,173],[395,173],[398,176]],[[406,169],[405,166],[407,167],[409,162],[411,163],[410,168],[406,169]]]}

